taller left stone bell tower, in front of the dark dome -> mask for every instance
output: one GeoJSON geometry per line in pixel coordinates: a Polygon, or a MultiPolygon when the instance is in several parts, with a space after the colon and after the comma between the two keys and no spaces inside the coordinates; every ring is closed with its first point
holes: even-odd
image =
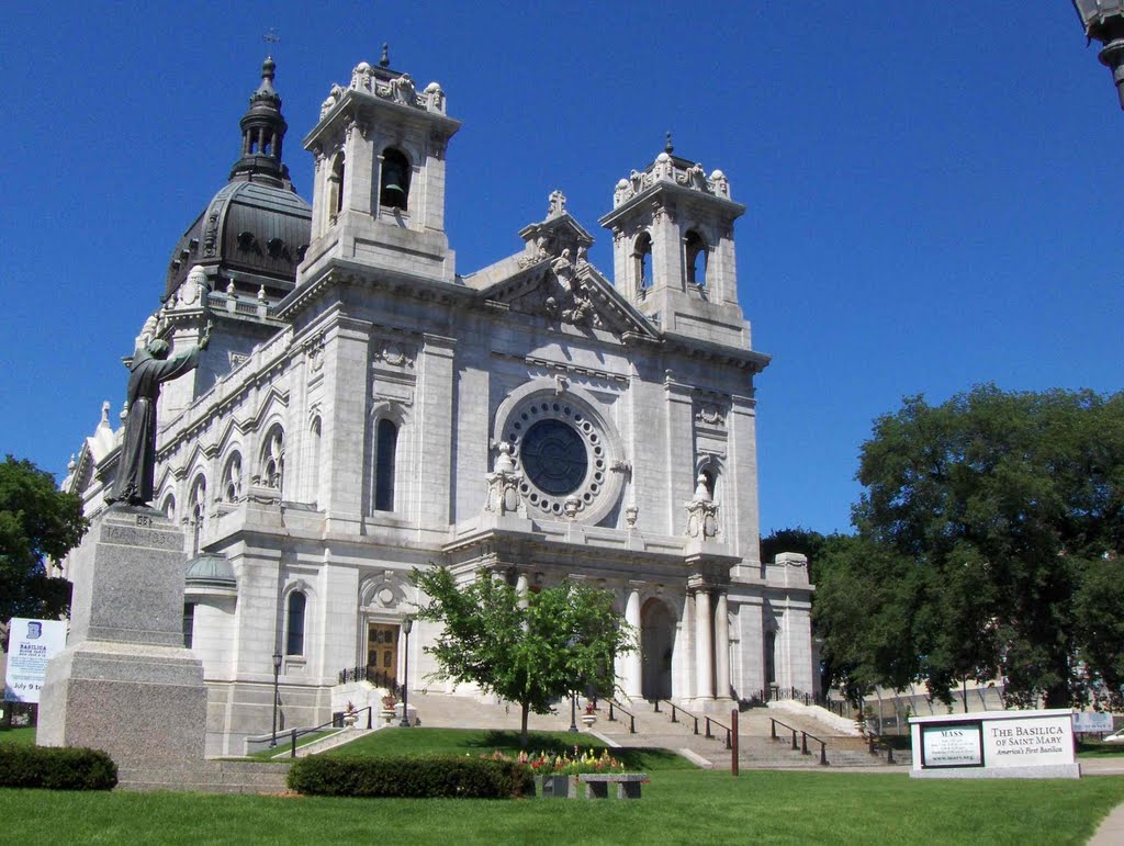
{"type": "Polygon", "coordinates": [[[436,82],[419,91],[408,73],[390,69],[386,45],[377,67],[361,62],[350,85],[333,85],[305,138],[316,175],[301,276],[343,258],[452,282],[445,148],[460,126],[445,116],[436,82]]]}

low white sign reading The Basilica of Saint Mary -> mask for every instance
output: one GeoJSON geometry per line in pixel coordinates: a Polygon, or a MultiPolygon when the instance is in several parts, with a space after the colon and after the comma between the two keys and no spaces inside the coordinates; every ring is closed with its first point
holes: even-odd
{"type": "Polygon", "coordinates": [[[1069,711],[982,711],[915,717],[914,777],[1058,779],[1080,775],[1069,711]]]}

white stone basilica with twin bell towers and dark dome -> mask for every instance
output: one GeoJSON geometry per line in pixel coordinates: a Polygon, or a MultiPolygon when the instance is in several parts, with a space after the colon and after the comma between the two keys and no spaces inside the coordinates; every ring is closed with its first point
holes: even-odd
{"type": "MultiPolygon", "coordinates": [[[[270,730],[275,653],[288,725],[330,718],[342,670],[400,679],[407,643],[411,688],[480,695],[426,680],[427,625],[400,637],[410,572],[433,564],[611,591],[642,646],[618,657],[620,695],[707,710],[812,691],[806,562],[758,549],[769,357],[737,301],[726,176],[669,144],[611,187],[611,278],[558,191],[520,252],[461,274],[441,87],[386,54],[333,85],[305,138],[309,206],[273,76],[268,60],[229,182],[137,338],[210,338],[163,386],[153,500],[184,530],[208,753],[270,730]]],[[[63,483],[90,516],[120,444],[107,404],[63,483]]]]}

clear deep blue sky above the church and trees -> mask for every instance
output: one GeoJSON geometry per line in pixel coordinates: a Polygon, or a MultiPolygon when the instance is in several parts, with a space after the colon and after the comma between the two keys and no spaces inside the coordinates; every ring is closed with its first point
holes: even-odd
{"type": "Polygon", "coordinates": [[[115,413],[178,236],[226,182],[268,52],[285,161],[390,43],[464,121],[457,270],[515,252],[555,188],[598,238],[673,133],[749,207],[740,297],[762,531],[845,529],[860,445],[901,398],[1121,388],[1124,138],[1069,2],[10,4],[0,28],[0,453],[61,479],[115,413]],[[42,8],[40,8],[42,7],[42,8]],[[316,8],[315,17],[305,9],[316,8]],[[830,12],[824,16],[823,12],[830,12]]]}

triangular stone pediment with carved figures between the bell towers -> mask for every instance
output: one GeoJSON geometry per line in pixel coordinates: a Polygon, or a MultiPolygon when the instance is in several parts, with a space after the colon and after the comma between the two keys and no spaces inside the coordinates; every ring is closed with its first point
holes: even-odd
{"type": "Polygon", "coordinates": [[[513,312],[553,324],[600,329],[618,337],[658,337],[647,319],[586,261],[584,252],[580,249],[575,260],[569,248],[559,255],[542,256],[489,285],[481,295],[513,312]]]}

